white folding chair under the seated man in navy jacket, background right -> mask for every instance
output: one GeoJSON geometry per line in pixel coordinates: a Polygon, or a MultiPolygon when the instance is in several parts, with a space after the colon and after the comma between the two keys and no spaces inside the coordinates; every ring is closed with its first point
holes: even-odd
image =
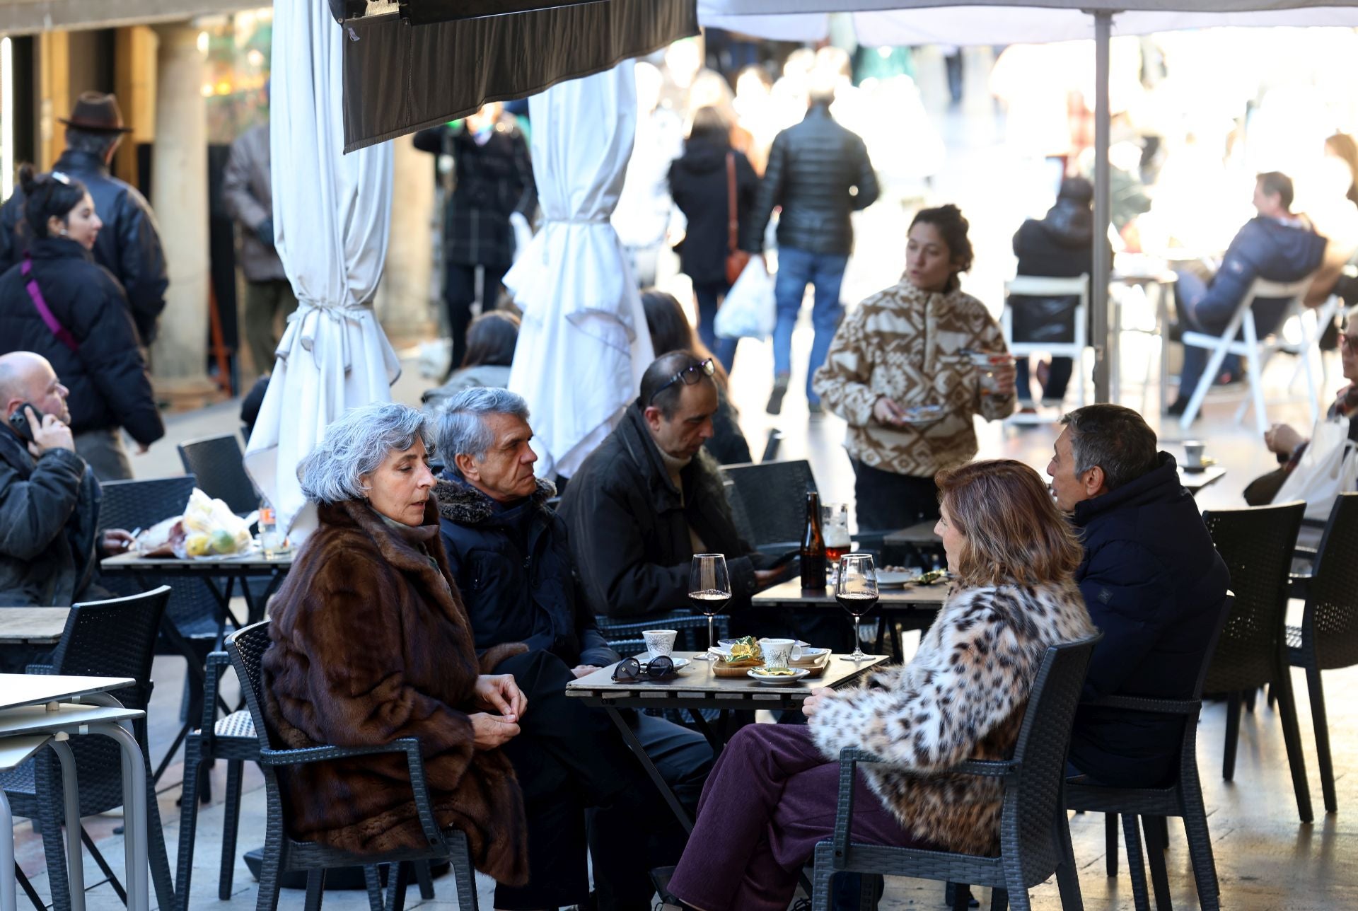
{"type": "Polygon", "coordinates": [[[1268,414],[1264,403],[1264,386],[1263,375],[1264,367],[1268,360],[1278,352],[1287,352],[1290,354],[1297,354],[1302,358],[1302,367],[1306,373],[1306,395],[1310,405],[1310,422],[1315,424],[1320,417],[1320,409],[1317,406],[1316,395],[1316,379],[1310,369],[1310,356],[1312,350],[1316,349],[1313,339],[1304,339],[1301,343],[1289,342],[1282,337],[1282,326],[1293,316],[1301,315],[1301,299],[1306,295],[1306,289],[1310,286],[1310,276],[1306,276],[1301,281],[1268,281],[1266,278],[1255,278],[1253,284],[1249,285],[1249,291],[1245,292],[1244,299],[1240,305],[1236,307],[1234,315],[1226,324],[1226,329],[1221,335],[1213,335],[1210,333],[1184,333],[1180,339],[1186,348],[1205,348],[1211,352],[1207,358],[1207,367],[1203,369],[1202,376],[1198,379],[1198,387],[1192,391],[1192,398],[1188,399],[1188,407],[1184,409],[1183,417],[1179,418],[1179,426],[1187,430],[1198,411],[1202,409],[1203,399],[1207,398],[1207,391],[1211,388],[1213,380],[1221,371],[1221,362],[1226,358],[1226,354],[1236,354],[1238,357],[1249,358],[1249,398],[1240,403],[1236,410],[1236,422],[1244,420],[1245,410],[1253,405],[1255,406],[1255,426],[1259,433],[1263,434],[1268,429],[1268,414]],[[1259,333],[1255,330],[1255,314],[1253,303],[1256,299],[1286,299],[1287,310],[1283,312],[1283,318],[1278,322],[1278,331],[1268,335],[1264,339],[1259,338],[1259,333]],[[1236,335],[1243,334],[1244,338],[1236,341],[1236,335]]]}

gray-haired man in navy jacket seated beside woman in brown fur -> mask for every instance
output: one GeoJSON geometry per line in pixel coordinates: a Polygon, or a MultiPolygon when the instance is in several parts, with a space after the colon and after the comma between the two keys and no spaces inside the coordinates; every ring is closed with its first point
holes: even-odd
{"type": "MultiPolygon", "coordinates": [[[[527,645],[526,654],[500,663],[496,672],[513,673],[530,703],[545,691],[559,694],[570,680],[619,657],[599,633],[576,582],[566,524],[547,504],[555,487],[534,477],[538,456],[531,440],[528,405],[521,396],[493,387],[464,390],[448,401],[439,421],[444,471],[435,486],[448,566],[467,607],[477,652],[527,645]]],[[[526,715],[523,724],[553,745],[540,767],[531,774],[520,771],[530,854],[550,853],[562,888],[583,877],[584,809],[596,806],[588,840],[598,907],[649,907],[648,870],[678,859],[683,832],[608,717],[579,706],[573,717],[538,713],[526,715]],[[581,793],[551,786],[559,768],[581,783],[581,793]],[[554,824],[539,847],[534,832],[535,820],[542,819],[554,824]],[[646,820],[642,835],[637,819],[646,820]]],[[[650,715],[633,714],[630,724],[693,813],[712,767],[706,739],[650,715]]],[[[534,893],[531,899],[534,903],[517,907],[558,907],[576,900],[561,892],[534,893]]]]}

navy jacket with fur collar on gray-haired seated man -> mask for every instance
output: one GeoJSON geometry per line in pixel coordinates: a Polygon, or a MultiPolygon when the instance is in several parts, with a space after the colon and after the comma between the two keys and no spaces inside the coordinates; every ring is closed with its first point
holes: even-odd
{"type": "Polygon", "coordinates": [[[435,486],[448,569],[477,653],[523,642],[568,667],[612,664],[618,654],[576,591],[566,524],[547,505],[554,494],[539,481],[532,497],[507,510],[451,471],[435,486]]]}

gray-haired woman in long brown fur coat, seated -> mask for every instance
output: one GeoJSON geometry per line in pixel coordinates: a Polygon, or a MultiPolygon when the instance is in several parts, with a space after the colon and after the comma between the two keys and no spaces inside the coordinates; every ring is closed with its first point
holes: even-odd
{"type": "MultiPolygon", "coordinates": [[[[439,539],[426,418],[403,405],[348,411],[297,474],[319,528],[270,603],[265,717],[292,748],[418,737],[433,813],[467,835],[478,869],[528,880],[523,798],[500,749],[527,701],[486,675],[439,539]]],[[[509,649],[523,646],[508,646],[509,649]]],[[[289,768],[289,834],[356,854],[417,849],[410,774],[399,754],[289,768]]]]}

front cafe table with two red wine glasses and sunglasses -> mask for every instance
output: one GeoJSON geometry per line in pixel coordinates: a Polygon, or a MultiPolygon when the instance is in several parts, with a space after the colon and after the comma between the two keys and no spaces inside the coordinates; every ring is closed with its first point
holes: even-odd
{"type": "Polygon", "coordinates": [[[800,710],[801,702],[811,695],[812,690],[830,687],[838,690],[853,683],[869,669],[887,660],[887,656],[870,656],[866,661],[853,663],[841,660],[841,656],[830,656],[830,667],[823,677],[804,677],[788,684],[763,684],[750,677],[718,677],[712,672],[710,661],[694,661],[695,652],[675,652],[675,657],[689,658],[679,676],[672,680],[659,682],[629,682],[615,683],[612,669],[608,665],[591,675],[572,680],[566,684],[566,695],[584,699],[585,705],[602,707],[618,725],[622,739],[631,752],[641,762],[642,768],[650,775],[660,793],[664,794],[669,809],[674,811],[686,832],[693,831],[693,820],[689,819],[683,804],[669,790],[665,779],[660,775],[655,763],[646,755],[645,748],[637,735],[627,725],[619,709],[687,709],[702,733],[713,744],[714,749],[721,747],[708,722],[703,720],[702,709],[718,709],[721,711],[755,711],[756,709],[788,709],[800,710]]]}

